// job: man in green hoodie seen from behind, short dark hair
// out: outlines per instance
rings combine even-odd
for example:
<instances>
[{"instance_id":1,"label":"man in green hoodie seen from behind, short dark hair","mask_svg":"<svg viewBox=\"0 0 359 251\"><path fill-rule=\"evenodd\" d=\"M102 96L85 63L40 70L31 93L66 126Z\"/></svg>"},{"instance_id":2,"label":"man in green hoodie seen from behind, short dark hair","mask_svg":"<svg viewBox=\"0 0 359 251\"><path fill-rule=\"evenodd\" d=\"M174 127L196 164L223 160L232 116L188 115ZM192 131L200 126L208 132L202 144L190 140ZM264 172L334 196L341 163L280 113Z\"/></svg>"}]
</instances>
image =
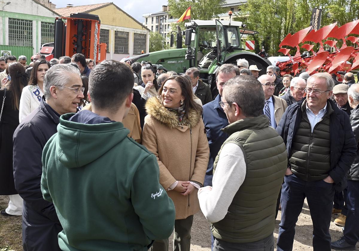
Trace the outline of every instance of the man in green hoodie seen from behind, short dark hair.
<instances>
[{"instance_id":1,"label":"man in green hoodie seen from behind, short dark hair","mask_svg":"<svg viewBox=\"0 0 359 251\"><path fill-rule=\"evenodd\" d=\"M104 61L89 78L92 112L60 117L46 144L41 189L64 230L62 250L148 250L174 228L174 205L159 184L155 156L127 137L134 76Z\"/></svg>"}]
</instances>

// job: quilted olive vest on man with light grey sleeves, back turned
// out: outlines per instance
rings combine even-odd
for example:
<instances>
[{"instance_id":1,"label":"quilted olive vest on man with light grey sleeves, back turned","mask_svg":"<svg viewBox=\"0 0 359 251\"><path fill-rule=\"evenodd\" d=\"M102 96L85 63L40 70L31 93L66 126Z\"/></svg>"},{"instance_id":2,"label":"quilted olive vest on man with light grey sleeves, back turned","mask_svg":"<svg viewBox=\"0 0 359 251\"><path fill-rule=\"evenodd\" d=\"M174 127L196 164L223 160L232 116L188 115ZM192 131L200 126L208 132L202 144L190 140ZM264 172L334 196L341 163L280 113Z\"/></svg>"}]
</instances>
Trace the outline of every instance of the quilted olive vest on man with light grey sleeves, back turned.
<instances>
[{"instance_id":1,"label":"quilted olive vest on man with light grey sleeves, back turned","mask_svg":"<svg viewBox=\"0 0 359 251\"><path fill-rule=\"evenodd\" d=\"M227 242L259 241L274 231L275 207L287 167L285 145L278 133L269 127L265 115L238 120L223 131L230 136L215 159L213 172L227 143L241 147L247 171L226 216L213 223L212 233L215 238Z\"/></svg>"}]
</instances>

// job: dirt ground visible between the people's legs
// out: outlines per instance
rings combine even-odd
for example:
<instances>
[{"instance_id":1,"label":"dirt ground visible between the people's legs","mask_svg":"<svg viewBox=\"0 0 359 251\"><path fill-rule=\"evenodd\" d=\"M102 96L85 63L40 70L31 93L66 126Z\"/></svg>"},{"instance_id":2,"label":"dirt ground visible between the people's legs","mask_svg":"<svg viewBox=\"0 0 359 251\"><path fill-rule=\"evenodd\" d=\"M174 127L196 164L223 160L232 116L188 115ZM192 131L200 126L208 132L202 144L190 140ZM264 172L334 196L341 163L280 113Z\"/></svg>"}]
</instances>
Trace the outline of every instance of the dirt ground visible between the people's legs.
<instances>
[{"instance_id":1,"label":"dirt ground visible between the people's legs","mask_svg":"<svg viewBox=\"0 0 359 251\"><path fill-rule=\"evenodd\" d=\"M7 207L7 203L8 203L8 196L0 196L0 210L5 209ZM333 222L336 217L337 216L332 217L332 223L330 224L330 234L332 236L332 240L337 240L342 236L341 227L336 226ZM275 230L274 230L275 241L278 237L279 222L280 222L280 211L275 224ZM299 216L295 231L296 232L294 237L293 250L294 251L313 250L312 220L306 202L304 203L302 213ZM195 214L191 234L192 234L191 250L210 251L211 239L210 239L209 223L207 222L202 212ZM170 237L170 240L172 240L172 238L173 236ZM23 250L22 241L21 241L21 216L5 217L0 215L0 250L2 248L6 248L4 250L13 249L14 251ZM173 251L172 247L170 247L169 250ZM356 250L359 251L359 243L356 245Z\"/></svg>"}]
</instances>

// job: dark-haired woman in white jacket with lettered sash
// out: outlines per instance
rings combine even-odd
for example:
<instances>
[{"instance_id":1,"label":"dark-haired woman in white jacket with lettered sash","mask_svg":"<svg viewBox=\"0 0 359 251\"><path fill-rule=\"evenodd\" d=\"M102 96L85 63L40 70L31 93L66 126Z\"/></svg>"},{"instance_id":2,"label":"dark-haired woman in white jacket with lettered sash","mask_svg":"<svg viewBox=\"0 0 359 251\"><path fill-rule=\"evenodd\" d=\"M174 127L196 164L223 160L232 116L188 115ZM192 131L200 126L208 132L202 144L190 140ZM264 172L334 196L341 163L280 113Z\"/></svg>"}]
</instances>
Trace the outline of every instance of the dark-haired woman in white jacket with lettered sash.
<instances>
[{"instance_id":1,"label":"dark-haired woman in white jacket with lettered sash","mask_svg":"<svg viewBox=\"0 0 359 251\"><path fill-rule=\"evenodd\" d=\"M20 99L19 120L29 115L40 105L43 94L43 80L45 72L50 68L50 63L46 60L37 60L31 71L28 86L25 86Z\"/></svg>"}]
</instances>

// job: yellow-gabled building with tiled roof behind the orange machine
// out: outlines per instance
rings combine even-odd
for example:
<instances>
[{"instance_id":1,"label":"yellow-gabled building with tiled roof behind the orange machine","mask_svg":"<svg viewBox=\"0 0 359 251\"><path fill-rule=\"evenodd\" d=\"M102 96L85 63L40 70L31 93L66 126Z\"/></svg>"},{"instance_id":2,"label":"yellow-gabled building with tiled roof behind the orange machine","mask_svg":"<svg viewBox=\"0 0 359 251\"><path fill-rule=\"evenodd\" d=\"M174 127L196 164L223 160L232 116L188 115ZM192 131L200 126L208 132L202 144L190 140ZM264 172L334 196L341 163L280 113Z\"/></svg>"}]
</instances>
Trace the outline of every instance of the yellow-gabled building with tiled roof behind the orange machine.
<instances>
[{"instance_id":1,"label":"yellow-gabled building with tiled roof behind the orange machine","mask_svg":"<svg viewBox=\"0 0 359 251\"><path fill-rule=\"evenodd\" d=\"M62 16L71 13L98 15L101 20L100 42L107 44L106 59L121 60L149 52L150 30L113 3L68 5L54 9Z\"/></svg>"}]
</instances>

